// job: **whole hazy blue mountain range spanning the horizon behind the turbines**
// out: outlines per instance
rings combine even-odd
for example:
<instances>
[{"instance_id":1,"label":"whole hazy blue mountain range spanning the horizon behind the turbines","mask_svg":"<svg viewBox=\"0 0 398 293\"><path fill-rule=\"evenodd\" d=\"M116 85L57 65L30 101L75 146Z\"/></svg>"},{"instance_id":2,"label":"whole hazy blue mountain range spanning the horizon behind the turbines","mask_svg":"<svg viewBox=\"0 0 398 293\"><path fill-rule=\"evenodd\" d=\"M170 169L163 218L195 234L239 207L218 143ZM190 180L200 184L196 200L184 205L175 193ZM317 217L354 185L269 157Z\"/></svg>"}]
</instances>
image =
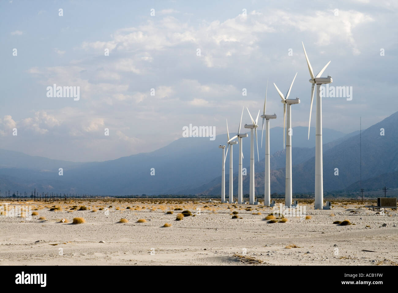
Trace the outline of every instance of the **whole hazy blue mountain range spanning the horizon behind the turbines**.
<instances>
[{"instance_id":1,"label":"whole hazy blue mountain range spanning the horizon behind the turbines","mask_svg":"<svg viewBox=\"0 0 398 293\"><path fill-rule=\"evenodd\" d=\"M362 187L379 189L381 185L397 185L398 112L365 129L362 140ZM384 135L380 135L381 128ZM315 129L293 128L293 193L313 193L315 167ZM232 133L234 135L235 133ZM264 134L265 137L265 134ZM360 178L359 131L344 134L323 129L324 191L358 191ZM180 138L152 151L102 162L75 163L30 156L0 149L0 191L86 193L100 195L219 195L221 190L221 149L226 134L209 138ZM285 191L285 150L283 129L270 130L271 193ZM259 161L255 163L256 194L264 193L264 141ZM256 147L255 147L256 148ZM225 163L226 195L228 195L229 153ZM249 192L250 133L243 138L244 193ZM234 146L234 194L237 194L238 145ZM59 175L59 168L63 175ZM154 168L154 174L151 174ZM335 174L338 168L338 174ZM153 171L152 171L153 174Z\"/></svg>"}]
</instances>

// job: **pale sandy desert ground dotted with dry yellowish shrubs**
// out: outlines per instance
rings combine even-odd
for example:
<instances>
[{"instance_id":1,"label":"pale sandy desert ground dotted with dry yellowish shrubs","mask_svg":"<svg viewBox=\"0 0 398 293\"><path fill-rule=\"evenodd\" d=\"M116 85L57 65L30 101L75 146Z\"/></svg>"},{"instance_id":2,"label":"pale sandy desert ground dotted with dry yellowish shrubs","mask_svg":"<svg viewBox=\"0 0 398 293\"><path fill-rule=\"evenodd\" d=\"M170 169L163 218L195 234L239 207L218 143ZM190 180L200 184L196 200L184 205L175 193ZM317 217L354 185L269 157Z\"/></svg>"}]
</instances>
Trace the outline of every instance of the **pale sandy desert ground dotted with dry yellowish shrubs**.
<instances>
[{"instance_id":1,"label":"pale sandy desert ground dotted with dry yellowish shrubs","mask_svg":"<svg viewBox=\"0 0 398 293\"><path fill-rule=\"evenodd\" d=\"M282 201L279 201L282 203ZM5 202L0 202L4 206ZM262 205L180 199L27 202L29 217L0 216L1 265L396 265L398 214L365 204L306 206L310 219L269 223ZM21 203L15 203L15 205ZM50 211L51 207L60 210ZM75 207L74 207L75 206ZM78 210L86 206L87 210ZM109 206L112 206L109 208ZM8 208L14 207L11 202ZM127 208L131 207L131 208ZM71 209L74 208L74 209ZM103 208L100 210L100 208ZM108 208L108 209L107 209ZM192 216L176 221L182 210ZM199 210L197 210L199 209ZM173 214L166 214L173 211ZM232 219L236 211L238 218ZM39 219L45 217L44 219ZM71 224L82 217L84 224ZM121 218L127 223L118 223ZM66 219L64 222L60 220ZM145 219L139 223L137 220ZM340 226L334 221L349 220ZM68 221L68 223L66 223ZM162 227L169 223L171 227ZM355 224L355 225L354 225ZM384 225L383 227L383 224ZM104 243L100 243L104 242ZM291 244L291 247L287 248ZM294 245L293 245L294 244ZM364 251L368 250L368 251ZM246 254L245 254L246 252ZM239 256L244 256L240 258Z\"/></svg>"}]
</instances>

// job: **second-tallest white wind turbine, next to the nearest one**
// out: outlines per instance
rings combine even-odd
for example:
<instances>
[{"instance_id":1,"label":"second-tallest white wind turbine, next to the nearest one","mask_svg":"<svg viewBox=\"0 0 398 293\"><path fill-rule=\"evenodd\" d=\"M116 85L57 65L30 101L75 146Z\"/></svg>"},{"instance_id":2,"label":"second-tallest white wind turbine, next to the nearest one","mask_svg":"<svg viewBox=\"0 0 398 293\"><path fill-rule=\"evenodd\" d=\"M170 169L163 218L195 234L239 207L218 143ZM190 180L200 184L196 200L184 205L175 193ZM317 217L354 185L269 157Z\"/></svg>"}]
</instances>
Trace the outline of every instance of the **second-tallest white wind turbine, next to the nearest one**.
<instances>
[{"instance_id":1,"label":"second-tallest white wind turbine, next to the nearest one","mask_svg":"<svg viewBox=\"0 0 398 293\"><path fill-rule=\"evenodd\" d=\"M286 133L286 183L285 183L285 206L292 206L292 116L291 116L291 105L292 104L300 104L300 99L288 99L290 90L292 89L293 83L295 82L297 73L295 78L292 81L292 84L287 91L286 96L283 96L279 88L275 85L276 90L281 96L281 102L283 104L283 145L285 145L285 114L286 114L286 105L287 105L287 133ZM285 146L283 146L285 147Z\"/></svg>"}]
</instances>

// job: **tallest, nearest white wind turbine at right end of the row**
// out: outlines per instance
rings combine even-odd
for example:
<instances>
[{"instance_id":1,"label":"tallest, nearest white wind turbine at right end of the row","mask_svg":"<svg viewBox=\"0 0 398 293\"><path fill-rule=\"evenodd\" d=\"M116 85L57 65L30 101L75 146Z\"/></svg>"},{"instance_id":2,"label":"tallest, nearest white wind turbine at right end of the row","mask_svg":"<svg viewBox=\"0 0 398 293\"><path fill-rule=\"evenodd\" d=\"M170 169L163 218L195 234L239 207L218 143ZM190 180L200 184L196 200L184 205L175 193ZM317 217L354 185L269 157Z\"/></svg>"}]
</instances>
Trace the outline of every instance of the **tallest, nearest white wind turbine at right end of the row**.
<instances>
[{"instance_id":1,"label":"tallest, nearest white wind turbine at right end of the row","mask_svg":"<svg viewBox=\"0 0 398 293\"><path fill-rule=\"evenodd\" d=\"M307 53L304 48L305 59L307 60L308 70L310 71L312 83L311 86L311 106L310 106L310 120L308 122L308 139L310 139L310 125L311 125L311 112L312 112L312 101L314 100L314 87L316 85L316 140L315 140L315 209L323 209L323 162L322 162L322 96L321 96L321 85L325 83L332 83L333 79L328 77L320 77L328 67L330 61L322 68L319 73L314 76L310 60L308 60Z\"/></svg>"}]
</instances>

